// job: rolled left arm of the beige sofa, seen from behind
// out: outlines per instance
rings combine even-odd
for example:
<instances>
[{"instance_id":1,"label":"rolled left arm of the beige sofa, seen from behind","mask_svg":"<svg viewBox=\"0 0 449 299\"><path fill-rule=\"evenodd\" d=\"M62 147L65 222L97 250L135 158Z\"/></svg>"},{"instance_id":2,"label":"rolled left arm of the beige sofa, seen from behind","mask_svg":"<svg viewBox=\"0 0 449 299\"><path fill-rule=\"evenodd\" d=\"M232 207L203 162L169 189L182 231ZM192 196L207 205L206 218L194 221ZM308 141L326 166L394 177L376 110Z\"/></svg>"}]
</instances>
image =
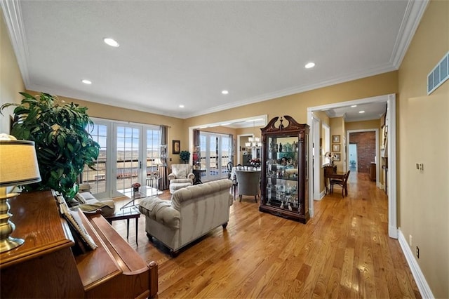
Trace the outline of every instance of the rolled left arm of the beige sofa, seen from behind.
<instances>
[{"instance_id":1,"label":"rolled left arm of the beige sofa, seen from behind","mask_svg":"<svg viewBox=\"0 0 449 299\"><path fill-rule=\"evenodd\" d=\"M140 201L139 211L171 230L180 228L180 212L171 206L171 201L147 197Z\"/></svg>"}]
</instances>

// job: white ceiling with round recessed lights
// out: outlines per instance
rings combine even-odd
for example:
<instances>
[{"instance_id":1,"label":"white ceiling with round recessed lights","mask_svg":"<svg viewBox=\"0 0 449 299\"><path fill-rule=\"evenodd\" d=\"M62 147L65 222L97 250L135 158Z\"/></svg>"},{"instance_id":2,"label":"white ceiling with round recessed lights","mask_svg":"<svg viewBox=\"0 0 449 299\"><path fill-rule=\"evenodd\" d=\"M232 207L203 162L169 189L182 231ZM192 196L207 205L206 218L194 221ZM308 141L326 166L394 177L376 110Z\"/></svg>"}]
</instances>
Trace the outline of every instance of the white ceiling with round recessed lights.
<instances>
[{"instance_id":1,"label":"white ceiling with round recessed lights","mask_svg":"<svg viewBox=\"0 0 449 299\"><path fill-rule=\"evenodd\" d=\"M0 1L27 89L180 118L398 69L427 5Z\"/></svg>"}]
</instances>

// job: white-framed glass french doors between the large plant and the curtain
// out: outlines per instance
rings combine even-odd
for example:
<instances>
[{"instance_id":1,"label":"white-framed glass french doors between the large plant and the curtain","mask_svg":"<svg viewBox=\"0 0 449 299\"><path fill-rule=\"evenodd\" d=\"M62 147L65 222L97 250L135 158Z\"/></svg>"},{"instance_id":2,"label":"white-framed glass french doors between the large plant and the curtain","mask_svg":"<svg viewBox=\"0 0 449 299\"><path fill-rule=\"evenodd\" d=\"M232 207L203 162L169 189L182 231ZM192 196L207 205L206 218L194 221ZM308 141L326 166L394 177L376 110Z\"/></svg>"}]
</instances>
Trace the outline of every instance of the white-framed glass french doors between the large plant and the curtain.
<instances>
[{"instance_id":1,"label":"white-framed glass french doors between the large plant and the curtain","mask_svg":"<svg viewBox=\"0 0 449 299\"><path fill-rule=\"evenodd\" d=\"M130 196L135 182L145 190L147 177L161 165L159 126L93 121L88 132L100 144L100 154L94 169L84 167L81 182L98 198ZM157 187L154 181L151 185Z\"/></svg>"}]
</instances>

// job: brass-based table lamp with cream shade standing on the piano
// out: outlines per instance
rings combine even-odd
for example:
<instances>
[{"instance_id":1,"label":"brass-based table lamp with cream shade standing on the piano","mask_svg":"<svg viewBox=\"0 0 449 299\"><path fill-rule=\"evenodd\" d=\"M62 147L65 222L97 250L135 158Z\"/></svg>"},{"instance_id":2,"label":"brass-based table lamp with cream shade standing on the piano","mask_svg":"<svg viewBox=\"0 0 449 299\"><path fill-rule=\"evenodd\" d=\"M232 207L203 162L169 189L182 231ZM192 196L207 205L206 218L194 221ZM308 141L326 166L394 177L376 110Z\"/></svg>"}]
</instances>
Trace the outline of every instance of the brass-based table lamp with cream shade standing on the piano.
<instances>
[{"instance_id":1,"label":"brass-based table lamp with cream shade standing on the piano","mask_svg":"<svg viewBox=\"0 0 449 299\"><path fill-rule=\"evenodd\" d=\"M9 220L11 206L8 198L18 194L7 194L6 187L40 182L34 142L16 140L14 136L0 134L0 253L22 245L25 240L11 237L15 225Z\"/></svg>"}]
</instances>

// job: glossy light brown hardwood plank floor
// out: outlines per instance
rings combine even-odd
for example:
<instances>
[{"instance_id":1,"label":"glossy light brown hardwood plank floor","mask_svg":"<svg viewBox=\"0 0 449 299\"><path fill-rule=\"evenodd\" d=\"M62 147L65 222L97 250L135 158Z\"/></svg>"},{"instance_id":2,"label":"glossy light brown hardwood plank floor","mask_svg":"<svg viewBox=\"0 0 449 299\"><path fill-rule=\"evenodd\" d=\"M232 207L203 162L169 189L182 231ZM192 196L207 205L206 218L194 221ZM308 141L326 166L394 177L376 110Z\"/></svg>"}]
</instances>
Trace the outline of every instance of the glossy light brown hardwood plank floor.
<instances>
[{"instance_id":1,"label":"glossy light brown hardwood plank floor","mask_svg":"<svg viewBox=\"0 0 449 299\"><path fill-rule=\"evenodd\" d=\"M335 187L315 201L306 225L260 213L253 197L243 197L226 230L217 227L177 258L149 243L143 215L139 245L134 220L128 241L159 264L159 298L421 298L398 241L388 237L385 193L360 173L351 173L348 190L342 198ZM125 220L113 226L126 236Z\"/></svg>"}]
</instances>

